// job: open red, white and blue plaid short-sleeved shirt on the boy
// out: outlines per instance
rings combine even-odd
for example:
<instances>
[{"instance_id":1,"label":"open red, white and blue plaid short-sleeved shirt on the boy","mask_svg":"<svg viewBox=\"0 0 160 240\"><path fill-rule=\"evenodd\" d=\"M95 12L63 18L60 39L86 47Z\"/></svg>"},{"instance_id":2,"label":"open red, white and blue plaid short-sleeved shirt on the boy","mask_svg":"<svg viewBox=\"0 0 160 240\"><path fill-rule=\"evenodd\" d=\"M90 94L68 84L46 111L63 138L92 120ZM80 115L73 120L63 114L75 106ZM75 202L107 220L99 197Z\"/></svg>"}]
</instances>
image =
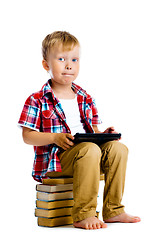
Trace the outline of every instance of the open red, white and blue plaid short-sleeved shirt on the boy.
<instances>
[{"instance_id":1,"label":"open red, white and blue plaid short-sleeved shirt on the boy","mask_svg":"<svg viewBox=\"0 0 160 240\"><path fill-rule=\"evenodd\" d=\"M59 100L51 88L51 80L42 89L29 96L24 104L19 125L46 133L71 133ZM92 125L101 123L95 101L78 85L72 83L77 95L81 123L85 132L94 132ZM35 158L32 176L41 182L47 172L61 172L61 164L57 154L61 148L56 144L34 146Z\"/></svg>"}]
</instances>

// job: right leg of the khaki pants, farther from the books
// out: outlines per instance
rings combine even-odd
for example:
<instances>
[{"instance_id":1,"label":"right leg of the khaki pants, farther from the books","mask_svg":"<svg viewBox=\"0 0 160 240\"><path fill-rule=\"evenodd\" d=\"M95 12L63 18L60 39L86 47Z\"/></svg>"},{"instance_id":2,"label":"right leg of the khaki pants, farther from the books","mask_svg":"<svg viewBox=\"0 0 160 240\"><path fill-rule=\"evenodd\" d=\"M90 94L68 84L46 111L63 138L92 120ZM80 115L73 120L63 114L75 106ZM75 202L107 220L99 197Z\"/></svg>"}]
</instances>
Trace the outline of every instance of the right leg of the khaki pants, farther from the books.
<instances>
[{"instance_id":1,"label":"right leg of the khaki pants, farther from the books","mask_svg":"<svg viewBox=\"0 0 160 240\"><path fill-rule=\"evenodd\" d=\"M101 170L105 174L103 193L103 219L114 217L124 212L121 204L124 192L128 148L111 141L100 146L102 150Z\"/></svg>"}]
</instances>

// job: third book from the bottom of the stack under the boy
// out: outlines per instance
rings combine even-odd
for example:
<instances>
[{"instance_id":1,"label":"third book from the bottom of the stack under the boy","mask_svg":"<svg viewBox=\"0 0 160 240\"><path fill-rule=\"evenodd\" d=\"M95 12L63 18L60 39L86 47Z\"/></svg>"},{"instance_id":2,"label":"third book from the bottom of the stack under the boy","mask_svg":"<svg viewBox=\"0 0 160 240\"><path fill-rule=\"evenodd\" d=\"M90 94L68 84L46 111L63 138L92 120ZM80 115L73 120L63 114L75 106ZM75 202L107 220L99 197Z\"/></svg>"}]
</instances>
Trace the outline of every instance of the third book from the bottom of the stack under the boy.
<instances>
[{"instance_id":1,"label":"third book from the bottom of the stack under the boy","mask_svg":"<svg viewBox=\"0 0 160 240\"><path fill-rule=\"evenodd\" d=\"M62 207L73 207L74 200L73 199L65 199L65 200L54 200L51 202L36 200L37 208L44 209L54 209L54 208L62 208Z\"/></svg>"}]
</instances>

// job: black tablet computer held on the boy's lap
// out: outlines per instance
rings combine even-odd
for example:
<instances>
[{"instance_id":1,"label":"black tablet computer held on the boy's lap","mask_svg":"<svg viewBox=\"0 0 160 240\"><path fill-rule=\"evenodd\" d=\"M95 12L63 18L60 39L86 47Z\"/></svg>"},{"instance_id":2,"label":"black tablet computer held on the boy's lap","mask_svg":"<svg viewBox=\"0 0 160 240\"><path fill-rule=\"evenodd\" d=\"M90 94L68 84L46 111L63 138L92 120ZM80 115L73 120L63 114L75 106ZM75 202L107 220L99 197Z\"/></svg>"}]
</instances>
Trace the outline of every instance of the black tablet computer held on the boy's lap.
<instances>
[{"instance_id":1,"label":"black tablet computer held on the boy's lap","mask_svg":"<svg viewBox=\"0 0 160 240\"><path fill-rule=\"evenodd\" d=\"M102 144L105 142L118 140L121 138L121 133L76 133L74 135L74 143L93 142Z\"/></svg>"}]
</instances>

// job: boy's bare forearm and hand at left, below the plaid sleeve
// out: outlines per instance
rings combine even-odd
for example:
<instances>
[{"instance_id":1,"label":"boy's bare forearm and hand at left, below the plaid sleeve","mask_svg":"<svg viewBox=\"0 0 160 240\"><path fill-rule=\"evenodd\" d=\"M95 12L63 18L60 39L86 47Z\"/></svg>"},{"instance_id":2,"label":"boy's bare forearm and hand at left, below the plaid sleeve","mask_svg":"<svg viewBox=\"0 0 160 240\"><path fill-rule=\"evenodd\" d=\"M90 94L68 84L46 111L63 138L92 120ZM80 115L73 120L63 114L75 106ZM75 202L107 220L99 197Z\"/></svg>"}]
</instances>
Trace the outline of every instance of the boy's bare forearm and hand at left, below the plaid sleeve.
<instances>
[{"instance_id":1,"label":"boy's bare forearm and hand at left, below the plaid sleeve","mask_svg":"<svg viewBox=\"0 0 160 240\"><path fill-rule=\"evenodd\" d=\"M22 136L25 143L34 146L56 144L66 150L74 145L74 143L70 141L74 139L70 133L44 133L23 127Z\"/></svg>"}]
</instances>

